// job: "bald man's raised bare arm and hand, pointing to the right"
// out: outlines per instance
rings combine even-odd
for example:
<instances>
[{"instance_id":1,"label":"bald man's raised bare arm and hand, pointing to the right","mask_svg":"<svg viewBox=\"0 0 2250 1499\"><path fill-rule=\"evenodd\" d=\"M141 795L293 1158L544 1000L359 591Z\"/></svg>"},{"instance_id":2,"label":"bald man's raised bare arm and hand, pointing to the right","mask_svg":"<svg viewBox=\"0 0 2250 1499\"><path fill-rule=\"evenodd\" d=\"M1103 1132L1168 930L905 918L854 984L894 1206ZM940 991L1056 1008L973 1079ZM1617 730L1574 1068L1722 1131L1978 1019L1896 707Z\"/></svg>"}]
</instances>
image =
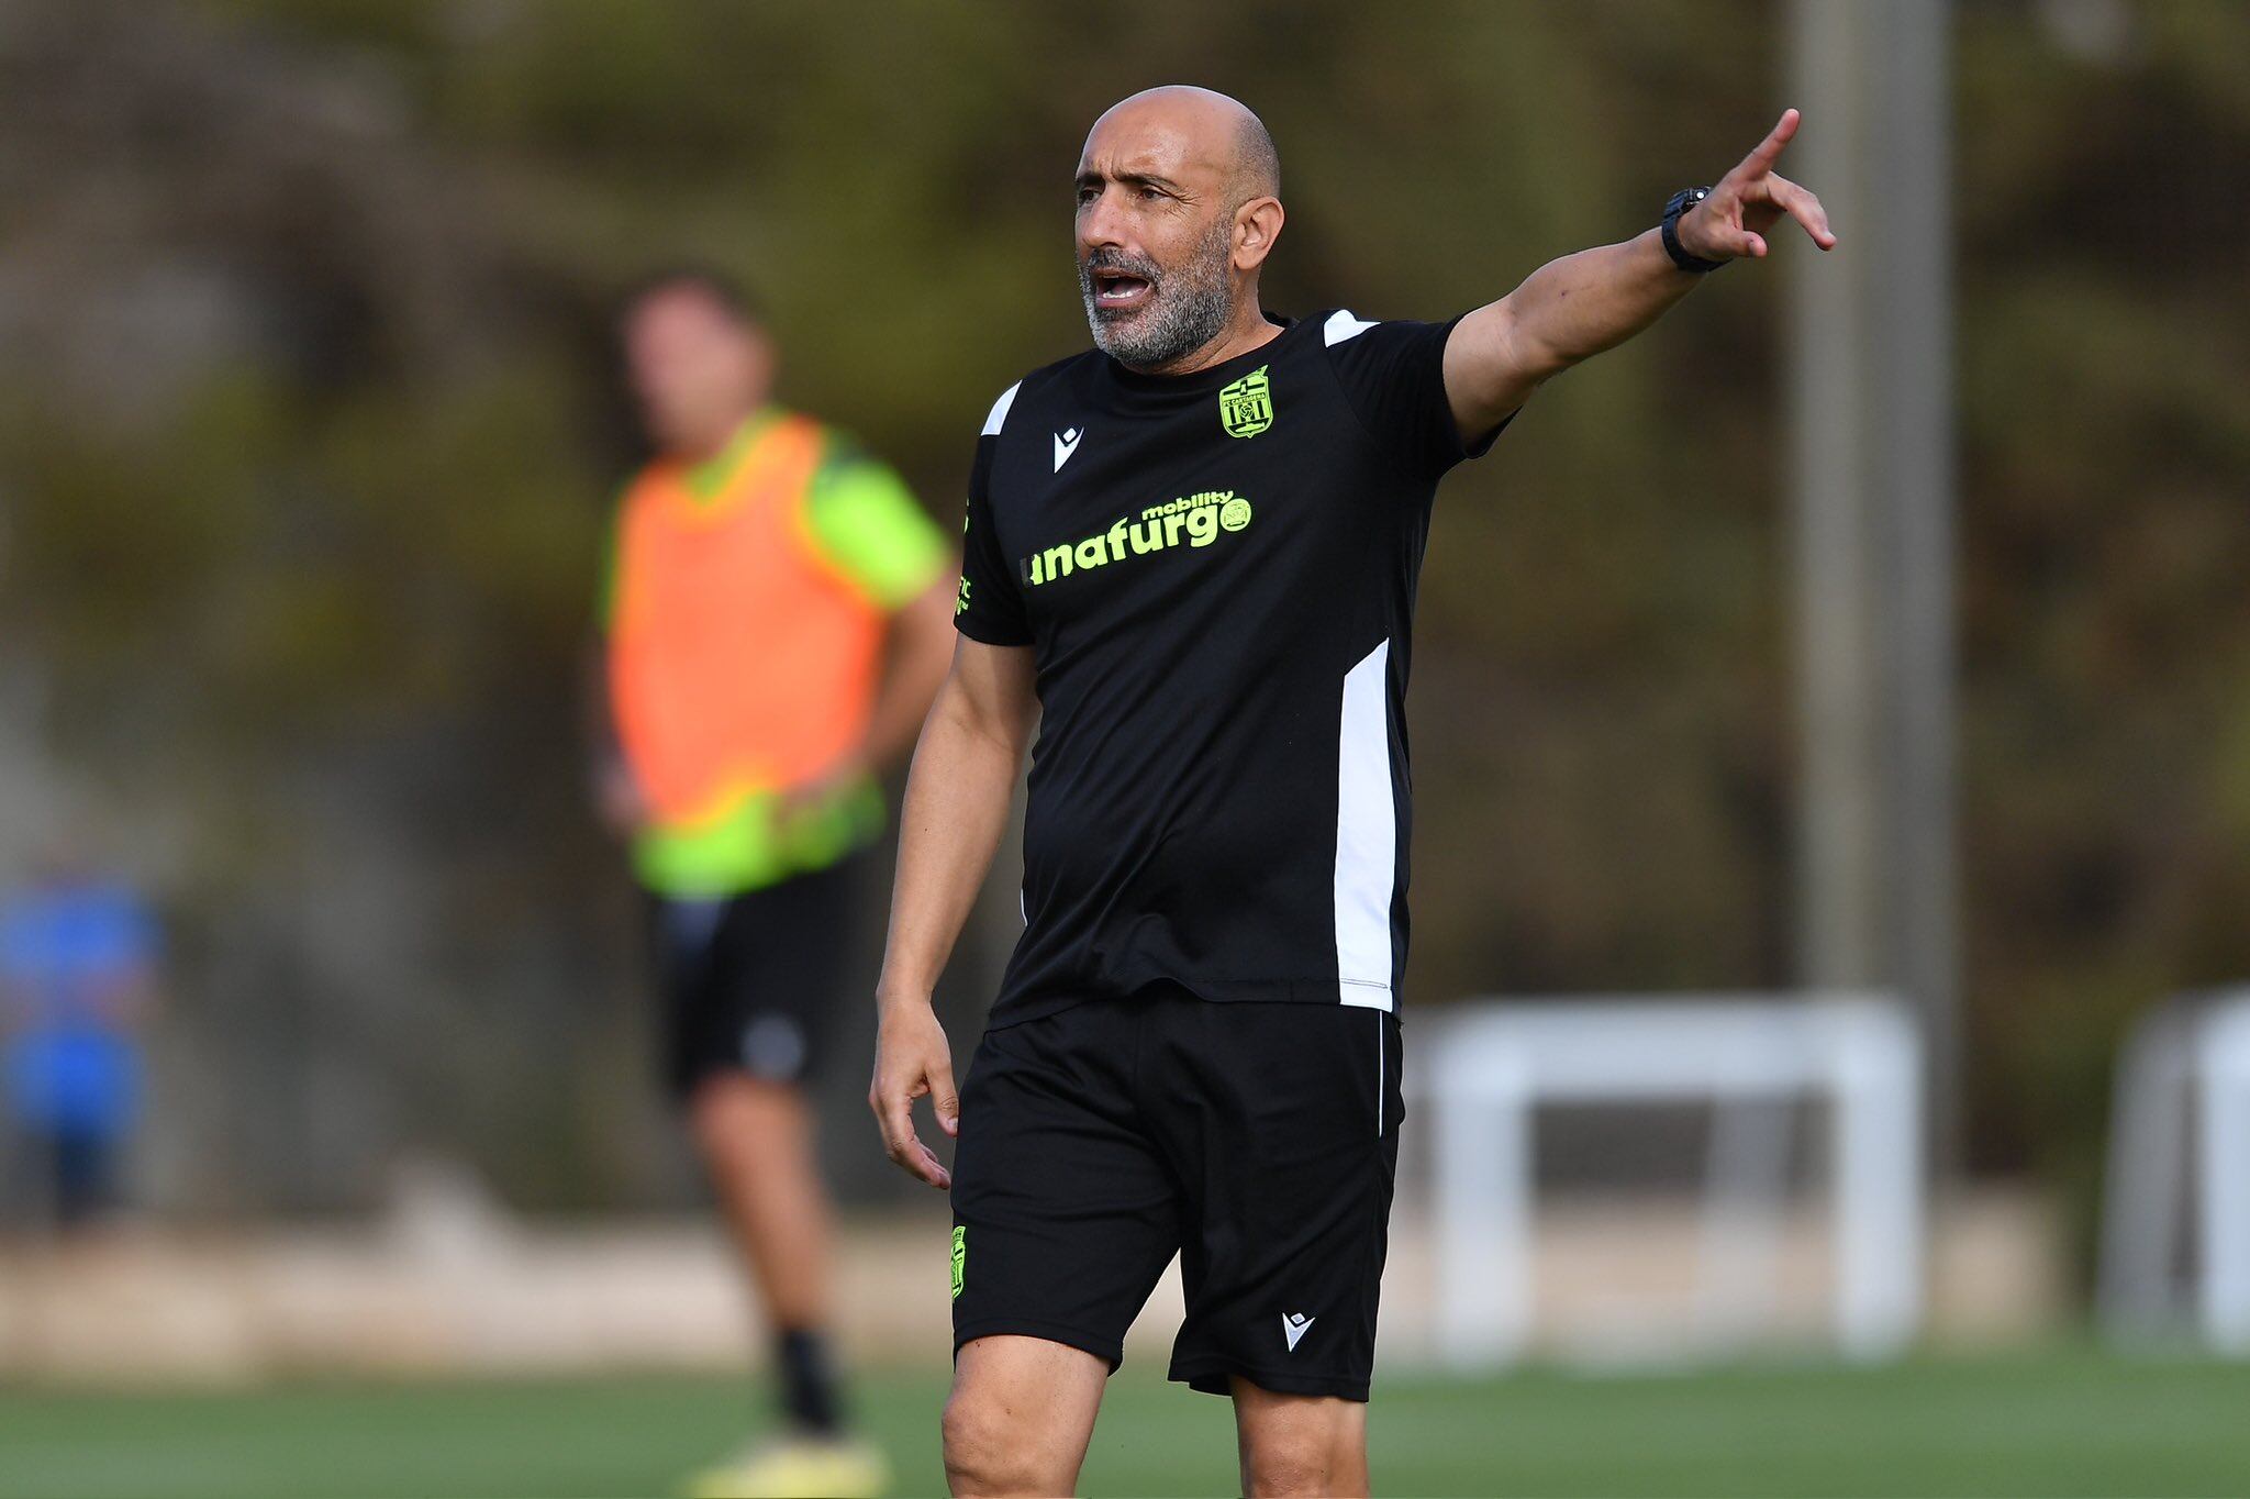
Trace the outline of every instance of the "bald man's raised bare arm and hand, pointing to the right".
<instances>
[{"instance_id":1,"label":"bald man's raised bare arm and hand, pointing to the right","mask_svg":"<svg viewBox=\"0 0 2250 1499\"><path fill-rule=\"evenodd\" d=\"M1836 248L1820 198L1773 171L1796 133L1798 113L1784 110L1766 140L1678 218L1681 250L1703 261L1762 259L1766 232L1782 218L1796 218L1822 250ZM1462 317L1444 344L1444 394L1462 439L1474 443L1544 380L1656 322L1699 279L1672 261L1658 230L1647 230L1548 261Z\"/></svg>"}]
</instances>

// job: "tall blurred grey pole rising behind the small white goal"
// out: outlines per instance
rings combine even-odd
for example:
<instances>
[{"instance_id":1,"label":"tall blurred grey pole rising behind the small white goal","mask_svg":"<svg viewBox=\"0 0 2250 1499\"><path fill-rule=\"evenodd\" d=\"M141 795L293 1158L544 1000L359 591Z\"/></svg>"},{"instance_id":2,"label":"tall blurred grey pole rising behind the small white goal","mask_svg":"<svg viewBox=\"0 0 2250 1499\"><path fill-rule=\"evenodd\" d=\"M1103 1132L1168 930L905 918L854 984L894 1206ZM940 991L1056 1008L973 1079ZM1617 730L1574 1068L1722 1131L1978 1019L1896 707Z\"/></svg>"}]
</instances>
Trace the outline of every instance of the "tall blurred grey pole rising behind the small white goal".
<instances>
[{"instance_id":1,"label":"tall blurred grey pole rising behind the small white goal","mask_svg":"<svg viewBox=\"0 0 2250 1499\"><path fill-rule=\"evenodd\" d=\"M1800 977L1924 1022L1958 1157L1951 70L1946 0L1791 2L1796 169L1845 248L1791 257Z\"/></svg>"}]
</instances>

